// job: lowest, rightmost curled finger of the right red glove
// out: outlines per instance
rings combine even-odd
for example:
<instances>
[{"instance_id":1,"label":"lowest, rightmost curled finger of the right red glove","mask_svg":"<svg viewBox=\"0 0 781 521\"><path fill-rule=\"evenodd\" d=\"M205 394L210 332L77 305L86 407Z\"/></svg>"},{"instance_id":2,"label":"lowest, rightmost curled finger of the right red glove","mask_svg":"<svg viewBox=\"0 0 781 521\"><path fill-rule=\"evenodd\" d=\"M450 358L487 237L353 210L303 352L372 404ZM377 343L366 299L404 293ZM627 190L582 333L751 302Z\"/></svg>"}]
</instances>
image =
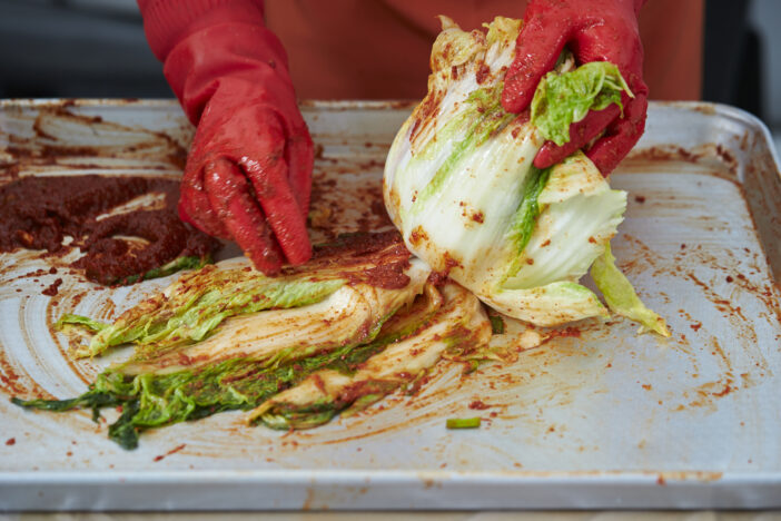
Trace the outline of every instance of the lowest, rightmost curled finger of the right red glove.
<instances>
[{"instance_id":1,"label":"lowest, rightmost curled finger of the right red glove","mask_svg":"<svg viewBox=\"0 0 781 521\"><path fill-rule=\"evenodd\" d=\"M636 94L625 104L624 117L611 124L605 136L586 151L603 176L615 169L643 135L647 106L646 95Z\"/></svg>"}]
</instances>

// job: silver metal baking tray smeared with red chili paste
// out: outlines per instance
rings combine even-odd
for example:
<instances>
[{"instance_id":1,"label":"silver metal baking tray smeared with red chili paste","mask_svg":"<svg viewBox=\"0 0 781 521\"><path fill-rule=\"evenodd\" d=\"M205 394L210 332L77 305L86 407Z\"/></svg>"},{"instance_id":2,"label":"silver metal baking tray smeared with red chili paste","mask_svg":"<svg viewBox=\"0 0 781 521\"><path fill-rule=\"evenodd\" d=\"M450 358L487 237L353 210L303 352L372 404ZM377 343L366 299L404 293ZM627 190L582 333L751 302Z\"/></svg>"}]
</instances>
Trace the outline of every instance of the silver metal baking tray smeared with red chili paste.
<instances>
[{"instance_id":1,"label":"silver metal baking tray smeared with red chili paste","mask_svg":"<svg viewBox=\"0 0 781 521\"><path fill-rule=\"evenodd\" d=\"M411 109L303 105L315 240L387 226L383 164ZM171 101L2 101L0 175L178 176L191 135ZM515 363L443 366L417 395L304 432L224 413L126 452L88 412L13 406L77 395L111 361L70 361L50 327L61 313L108 320L167 281L66 277L50 298L57 275L24 276L49 260L1 255L0 509L781 507L781 177L765 127L730 107L651 104L611 180L630 191L614 253L671 338L582 323ZM481 429L445 429L476 414Z\"/></svg>"}]
</instances>

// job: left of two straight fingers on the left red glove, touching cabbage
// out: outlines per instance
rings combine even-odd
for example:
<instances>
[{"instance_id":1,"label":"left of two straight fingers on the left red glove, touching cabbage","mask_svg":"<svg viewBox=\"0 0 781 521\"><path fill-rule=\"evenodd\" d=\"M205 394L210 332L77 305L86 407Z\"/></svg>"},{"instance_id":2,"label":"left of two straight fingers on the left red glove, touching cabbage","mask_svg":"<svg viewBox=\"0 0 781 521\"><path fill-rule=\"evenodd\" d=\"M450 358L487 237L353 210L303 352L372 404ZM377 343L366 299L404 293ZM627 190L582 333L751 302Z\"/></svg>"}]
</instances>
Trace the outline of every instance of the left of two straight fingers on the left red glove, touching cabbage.
<instances>
[{"instance_id":1,"label":"left of two straight fingers on the left red glove, touching cabbage","mask_svg":"<svg viewBox=\"0 0 781 521\"><path fill-rule=\"evenodd\" d=\"M207 165L206 170L206 194L233 239L263 273L279 273L281 252L241 170L225 158Z\"/></svg>"}]
</instances>

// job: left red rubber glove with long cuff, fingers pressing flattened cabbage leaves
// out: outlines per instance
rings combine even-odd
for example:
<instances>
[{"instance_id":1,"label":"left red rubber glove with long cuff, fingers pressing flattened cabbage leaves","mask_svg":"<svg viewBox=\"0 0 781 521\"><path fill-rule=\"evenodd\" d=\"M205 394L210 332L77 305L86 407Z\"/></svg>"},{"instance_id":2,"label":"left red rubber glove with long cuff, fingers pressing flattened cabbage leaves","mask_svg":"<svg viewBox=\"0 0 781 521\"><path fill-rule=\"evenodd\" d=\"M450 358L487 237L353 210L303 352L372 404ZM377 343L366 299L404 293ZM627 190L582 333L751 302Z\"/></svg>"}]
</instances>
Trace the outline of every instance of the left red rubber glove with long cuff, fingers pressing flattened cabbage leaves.
<instances>
[{"instance_id":1,"label":"left red rubber glove with long cuff, fingers pressing flattened cabbage leaves","mask_svg":"<svg viewBox=\"0 0 781 521\"><path fill-rule=\"evenodd\" d=\"M306 262L314 147L261 2L138 3L166 79L197 125L179 216L236 240L268 275Z\"/></svg>"}]
</instances>

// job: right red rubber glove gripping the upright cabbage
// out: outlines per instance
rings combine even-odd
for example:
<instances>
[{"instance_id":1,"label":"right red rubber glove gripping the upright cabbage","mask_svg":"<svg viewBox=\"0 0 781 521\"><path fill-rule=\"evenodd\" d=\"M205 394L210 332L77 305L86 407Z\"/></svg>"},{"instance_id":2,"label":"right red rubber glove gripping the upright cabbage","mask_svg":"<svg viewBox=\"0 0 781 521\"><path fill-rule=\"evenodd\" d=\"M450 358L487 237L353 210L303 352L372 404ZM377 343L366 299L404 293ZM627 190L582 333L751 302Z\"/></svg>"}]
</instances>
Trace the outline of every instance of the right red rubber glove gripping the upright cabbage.
<instances>
[{"instance_id":1,"label":"right red rubber glove gripping the upright cabbage","mask_svg":"<svg viewBox=\"0 0 781 521\"><path fill-rule=\"evenodd\" d=\"M586 155L607 176L629 154L645 129L647 87L643 82L643 46L637 12L645 0L531 0L516 40L515 60L505 77L502 105L521 112L532 102L540 79L556 63L564 46L579 65L610 61L619 67L634 98L622 95L616 105L591 111L570 127L571 141L547 141L534 166L547 168L604 131Z\"/></svg>"}]
</instances>

